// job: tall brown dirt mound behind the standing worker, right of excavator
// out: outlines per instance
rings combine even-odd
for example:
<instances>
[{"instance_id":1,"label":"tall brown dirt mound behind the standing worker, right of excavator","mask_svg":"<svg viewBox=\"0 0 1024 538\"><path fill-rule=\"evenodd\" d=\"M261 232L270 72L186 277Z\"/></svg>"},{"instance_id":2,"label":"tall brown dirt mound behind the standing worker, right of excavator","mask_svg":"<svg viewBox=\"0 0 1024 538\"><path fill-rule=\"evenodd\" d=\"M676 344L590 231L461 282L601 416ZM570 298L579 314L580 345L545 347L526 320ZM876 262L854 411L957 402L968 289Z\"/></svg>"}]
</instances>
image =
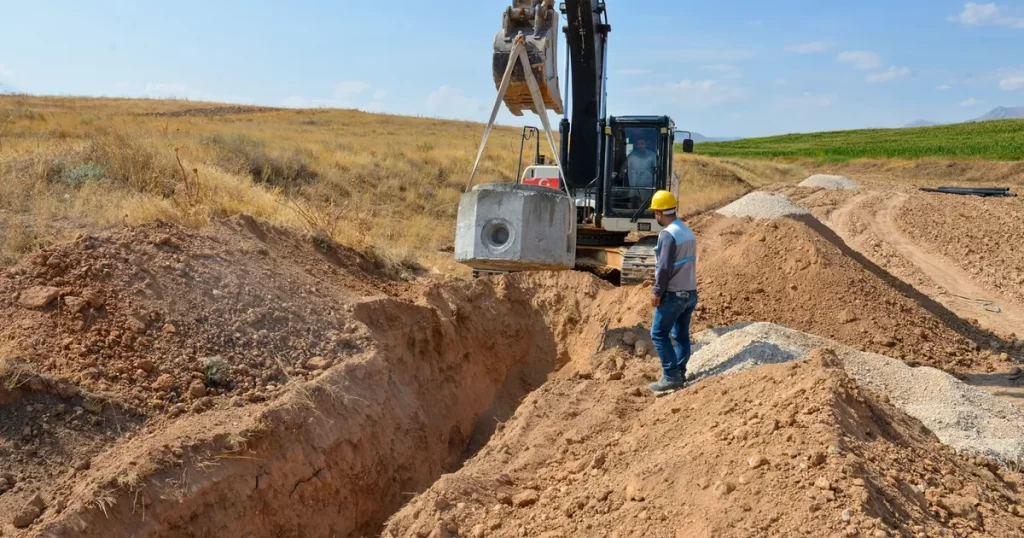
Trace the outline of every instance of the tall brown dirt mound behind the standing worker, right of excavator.
<instances>
[{"instance_id":1,"label":"tall brown dirt mound behind the standing worker, right of excavator","mask_svg":"<svg viewBox=\"0 0 1024 538\"><path fill-rule=\"evenodd\" d=\"M767 321L911 364L969 367L979 331L806 216L693 222L697 329ZM986 340L987 341L987 340Z\"/></svg>"}]
</instances>

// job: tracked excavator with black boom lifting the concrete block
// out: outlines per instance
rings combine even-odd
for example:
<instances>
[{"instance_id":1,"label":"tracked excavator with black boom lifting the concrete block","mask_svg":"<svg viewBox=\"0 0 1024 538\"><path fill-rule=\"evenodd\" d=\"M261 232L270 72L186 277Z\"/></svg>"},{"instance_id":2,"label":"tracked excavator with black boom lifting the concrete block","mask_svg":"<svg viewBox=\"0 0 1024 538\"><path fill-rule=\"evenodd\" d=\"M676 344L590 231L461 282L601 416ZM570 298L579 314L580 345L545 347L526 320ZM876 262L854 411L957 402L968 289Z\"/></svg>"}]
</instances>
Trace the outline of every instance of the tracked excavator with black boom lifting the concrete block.
<instances>
[{"instance_id":1,"label":"tracked excavator with black boom lifting the concrete block","mask_svg":"<svg viewBox=\"0 0 1024 538\"><path fill-rule=\"evenodd\" d=\"M559 13L565 18L561 30L567 45L564 94L557 65ZM513 69L509 66L513 45L517 37L525 38L535 87L539 86L544 106L531 98L521 64L506 81L503 100L515 116L547 110L562 115L561 171L540 159L517 180L564 190L574 200L578 270L635 285L654 278L660 226L648 209L650 200L658 190L679 196L673 173L676 136L686 134L685 153L693 152L693 140L689 132L677 131L669 116L607 116L610 32L604 0L566 0L557 11L553 0L512 0L495 37L493 75L501 90L506 70ZM524 129L523 139L531 133L539 134L536 128ZM519 159L521 169L521 149Z\"/></svg>"}]
</instances>

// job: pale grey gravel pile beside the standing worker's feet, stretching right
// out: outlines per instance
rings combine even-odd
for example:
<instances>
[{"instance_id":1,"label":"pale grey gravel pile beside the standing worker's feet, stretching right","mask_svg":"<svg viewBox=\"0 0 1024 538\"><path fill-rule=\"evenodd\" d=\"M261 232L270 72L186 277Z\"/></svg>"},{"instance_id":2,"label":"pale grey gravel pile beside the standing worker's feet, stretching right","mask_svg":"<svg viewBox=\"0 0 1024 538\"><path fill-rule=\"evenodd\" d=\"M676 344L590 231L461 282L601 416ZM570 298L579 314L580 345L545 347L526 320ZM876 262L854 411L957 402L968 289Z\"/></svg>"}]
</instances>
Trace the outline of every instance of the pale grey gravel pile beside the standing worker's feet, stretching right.
<instances>
[{"instance_id":1,"label":"pale grey gravel pile beside the standing worker's feet, stretching right","mask_svg":"<svg viewBox=\"0 0 1024 538\"><path fill-rule=\"evenodd\" d=\"M800 360L828 346L861 386L886 395L942 443L1002 462L1024 462L1024 412L934 368L910 368L770 323L740 324L695 335L689 370L697 378Z\"/></svg>"}]
</instances>

